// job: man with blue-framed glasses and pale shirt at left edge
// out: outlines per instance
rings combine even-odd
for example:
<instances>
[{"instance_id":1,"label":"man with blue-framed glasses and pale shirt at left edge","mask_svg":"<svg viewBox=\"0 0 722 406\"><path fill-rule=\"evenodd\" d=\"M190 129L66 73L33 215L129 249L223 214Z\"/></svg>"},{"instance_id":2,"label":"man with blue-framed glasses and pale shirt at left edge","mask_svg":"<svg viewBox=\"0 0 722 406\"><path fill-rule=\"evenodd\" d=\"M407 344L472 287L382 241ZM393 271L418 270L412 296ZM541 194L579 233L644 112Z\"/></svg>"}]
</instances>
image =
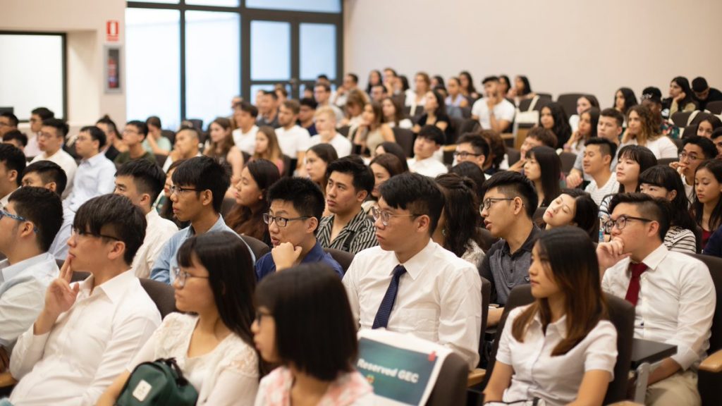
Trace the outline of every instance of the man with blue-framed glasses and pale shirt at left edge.
<instances>
[{"instance_id":1,"label":"man with blue-framed glasses and pale shirt at left edge","mask_svg":"<svg viewBox=\"0 0 722 406\"><path fill-rule=\"evenodd\" d=\"M63 223L60 196L48 189L24 187L10 196L0 214L0 371L7 368L17 337L43 309L45 290L58 277L48 252Z\"/></svg>"}]
</instances>

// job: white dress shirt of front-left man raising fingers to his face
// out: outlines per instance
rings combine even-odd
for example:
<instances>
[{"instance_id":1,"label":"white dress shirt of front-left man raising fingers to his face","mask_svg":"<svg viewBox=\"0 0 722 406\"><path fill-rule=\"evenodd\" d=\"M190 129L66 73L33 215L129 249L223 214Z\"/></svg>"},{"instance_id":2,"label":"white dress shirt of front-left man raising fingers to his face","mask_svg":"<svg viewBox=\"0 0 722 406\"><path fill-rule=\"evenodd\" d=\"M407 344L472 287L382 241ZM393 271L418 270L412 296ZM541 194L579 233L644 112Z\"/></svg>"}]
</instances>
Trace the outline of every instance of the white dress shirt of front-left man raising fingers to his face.
<instances>
[{"instance_id":1,"label":"white dress shirt of front-left man raising fingers to his face","mask_svg":"<svg viewBox=\"0 0 722 406\"><path fill-rule=\"evenodd\" d=\"M16 406L95 405L160 325L160 313L130 270L92 290L79 282L74 305L50 332L32 326L17 340L10 372Z\"/></svg>"}]
</instances>

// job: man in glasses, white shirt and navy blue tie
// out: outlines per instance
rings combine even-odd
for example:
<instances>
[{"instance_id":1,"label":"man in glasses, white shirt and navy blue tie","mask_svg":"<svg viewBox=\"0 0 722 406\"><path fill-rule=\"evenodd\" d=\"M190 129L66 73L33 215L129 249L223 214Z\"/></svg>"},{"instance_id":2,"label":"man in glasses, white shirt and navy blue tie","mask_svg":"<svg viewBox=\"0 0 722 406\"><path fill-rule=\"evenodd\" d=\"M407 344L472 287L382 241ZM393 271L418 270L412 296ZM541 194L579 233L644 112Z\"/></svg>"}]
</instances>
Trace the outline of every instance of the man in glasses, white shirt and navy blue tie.
<instances>
[{"instance_id":1,"label":"man in glasses, white shirt and navy blue tie","mask_svg":"<svg viewBox=\"0 0 722 406\"><path fill-rule=\"evenodd\" d=\"M443 193L425 176L403 173L383 183L372 211L379 245L354 257L344 286L361 329L437 342L471 369L479 362L481 279L474 265L432 241L443 206Z\"/></svg>"}]
</instances>

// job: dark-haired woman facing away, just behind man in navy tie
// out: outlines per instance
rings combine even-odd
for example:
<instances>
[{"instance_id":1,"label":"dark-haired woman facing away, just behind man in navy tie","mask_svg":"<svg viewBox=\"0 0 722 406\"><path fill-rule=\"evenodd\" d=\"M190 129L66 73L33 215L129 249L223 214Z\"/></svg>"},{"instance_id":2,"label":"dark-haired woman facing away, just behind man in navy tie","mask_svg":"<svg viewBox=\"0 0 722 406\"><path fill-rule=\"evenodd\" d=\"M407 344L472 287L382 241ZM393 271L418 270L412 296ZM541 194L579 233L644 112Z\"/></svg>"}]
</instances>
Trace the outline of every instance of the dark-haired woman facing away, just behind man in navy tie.
<instances>
[{"instance_id":1,"label":"dark-haired woman facing away, just behind man in navy tie","mask_svg":"<svg viewBox=\"0 0 722 406\"><path fill-rule=\"evenodd\" d=\"M436 177L436 185L443 191L444 209L432 240L474 267L480 267L484 251L476 241L481 220L476 184L456 173L444 173Z\"/></svg>"}]
</instances>

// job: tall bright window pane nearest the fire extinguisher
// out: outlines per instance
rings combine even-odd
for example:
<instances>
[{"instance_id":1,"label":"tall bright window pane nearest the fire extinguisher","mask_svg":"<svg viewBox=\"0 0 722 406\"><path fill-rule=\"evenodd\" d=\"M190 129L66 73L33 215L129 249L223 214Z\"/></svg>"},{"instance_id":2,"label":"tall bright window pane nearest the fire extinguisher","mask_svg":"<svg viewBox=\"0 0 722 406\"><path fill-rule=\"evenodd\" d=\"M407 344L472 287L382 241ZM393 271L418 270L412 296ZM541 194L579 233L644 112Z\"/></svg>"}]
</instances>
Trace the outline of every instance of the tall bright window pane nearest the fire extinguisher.
<instances>
[{"instance_id":1,"label":"tall bright window pane nearest the fire extinguisher","mask_svg":"<svg viewBox=\"0 0 722 406\"><path fill-rule=\"evenodd\" d=\"M129 120L159 116L163 128L181 124L180 14L126 9L126 108Z\"/></svg>"}]
</instances>

